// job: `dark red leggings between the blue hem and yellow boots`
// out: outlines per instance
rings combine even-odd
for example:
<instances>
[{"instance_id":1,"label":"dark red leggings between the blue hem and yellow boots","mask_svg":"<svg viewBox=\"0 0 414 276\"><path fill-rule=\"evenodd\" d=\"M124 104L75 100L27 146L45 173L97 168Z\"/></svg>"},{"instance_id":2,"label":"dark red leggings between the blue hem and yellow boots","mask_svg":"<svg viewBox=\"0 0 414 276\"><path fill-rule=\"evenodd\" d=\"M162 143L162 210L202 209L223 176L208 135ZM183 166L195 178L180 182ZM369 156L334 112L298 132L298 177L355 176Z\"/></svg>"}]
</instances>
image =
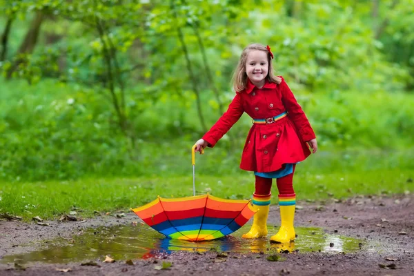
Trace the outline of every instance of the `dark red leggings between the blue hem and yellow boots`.
<instances>
[{"instance_id":1,"label":"dark red leggings between the blue hem and yellow boots","mask_svg":"<svg viewBox=\"0 0 414 276\"><path fill-rule=\"evenodd\" d=\"M294 173L295 173L295 165L293 165L292 173L290 173L289 175L285 175L284 177L280 177L276 179L276 185L277 185L277 190L279 190L279 195L295 193L295 190L293 190L293 174ZM256 195L270 194L273 179L258 177L257 175L255 177L256 177L255 194Z\"/></svg>"}]
</instances>

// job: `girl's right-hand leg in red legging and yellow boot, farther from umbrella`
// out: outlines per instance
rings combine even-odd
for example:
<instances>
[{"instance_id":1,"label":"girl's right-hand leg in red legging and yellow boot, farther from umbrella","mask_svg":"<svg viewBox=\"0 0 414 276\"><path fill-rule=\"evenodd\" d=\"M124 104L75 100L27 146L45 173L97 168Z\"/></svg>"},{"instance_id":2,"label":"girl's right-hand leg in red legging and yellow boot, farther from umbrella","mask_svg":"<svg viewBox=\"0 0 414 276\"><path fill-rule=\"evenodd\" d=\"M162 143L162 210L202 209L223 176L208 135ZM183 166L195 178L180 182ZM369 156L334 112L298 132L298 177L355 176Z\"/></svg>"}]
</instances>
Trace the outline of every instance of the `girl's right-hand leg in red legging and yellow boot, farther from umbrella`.
<instances>
[{"instance_id":1,"label":"girl's right-hand leg in red legging and yellow boot, farther from umbrella","mask_svg":"<svg viewBox=\"0 0 414 276\"><path fill-rule=\"evenodd\" d=\"M276 180L279 190L280 219L282 221L279 232L270 238L270 242L286 243L295 240L295 229L293 220L295 218L296 195L293 190L293 174L295 165L290 175L280 177Z\"/></svg>"}]
</instances>

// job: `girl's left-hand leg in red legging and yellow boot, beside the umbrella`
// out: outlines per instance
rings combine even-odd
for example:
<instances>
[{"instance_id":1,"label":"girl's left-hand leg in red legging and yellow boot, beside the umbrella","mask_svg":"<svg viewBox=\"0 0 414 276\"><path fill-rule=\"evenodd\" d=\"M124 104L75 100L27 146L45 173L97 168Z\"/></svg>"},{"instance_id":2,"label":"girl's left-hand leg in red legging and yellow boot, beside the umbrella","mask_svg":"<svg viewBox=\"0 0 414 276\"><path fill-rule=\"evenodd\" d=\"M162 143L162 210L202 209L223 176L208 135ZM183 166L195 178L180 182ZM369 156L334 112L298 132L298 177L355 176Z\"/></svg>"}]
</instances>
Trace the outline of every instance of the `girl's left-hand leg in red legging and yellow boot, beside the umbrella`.
<instances>
[{"instance_id":1,"label":"girl's left-hand leg in red legging and yellow boot, beside the umbrella","mask_svg":"<svg viewBox=\"0 0 414 276\"><path fill-rule=\"evenodd\" d=\"M267 231L267 218L270 206L270 190L272 188L272 179L264 177L256 177L255 193L253 194L253 206L258 208L255 217L253 217L253 225L248 233L244 234L245 239L255 239L265 237Z\"/></svg>"}]
</instances>

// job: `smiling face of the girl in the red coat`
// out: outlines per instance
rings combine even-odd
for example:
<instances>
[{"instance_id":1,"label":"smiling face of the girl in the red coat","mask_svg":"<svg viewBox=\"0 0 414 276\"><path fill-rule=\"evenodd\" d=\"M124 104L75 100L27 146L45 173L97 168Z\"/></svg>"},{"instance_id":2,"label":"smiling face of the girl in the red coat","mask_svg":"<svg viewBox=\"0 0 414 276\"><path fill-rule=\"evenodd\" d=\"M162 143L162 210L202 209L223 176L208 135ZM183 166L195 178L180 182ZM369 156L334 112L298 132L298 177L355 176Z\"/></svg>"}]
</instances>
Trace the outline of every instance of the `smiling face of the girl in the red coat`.
<instances>
[{"instance_id":1,"label":"smiling face of the girl in the red coat","mask_svg":"<svg viewBox=\"0 0 414 276\"><path fill-rule=\"evenodd\" d=\"M259 50L252 50L248 53L246 59L246 74L250 81L262 88L268 75L268 53Z\"/></svg>"}]
</instances>

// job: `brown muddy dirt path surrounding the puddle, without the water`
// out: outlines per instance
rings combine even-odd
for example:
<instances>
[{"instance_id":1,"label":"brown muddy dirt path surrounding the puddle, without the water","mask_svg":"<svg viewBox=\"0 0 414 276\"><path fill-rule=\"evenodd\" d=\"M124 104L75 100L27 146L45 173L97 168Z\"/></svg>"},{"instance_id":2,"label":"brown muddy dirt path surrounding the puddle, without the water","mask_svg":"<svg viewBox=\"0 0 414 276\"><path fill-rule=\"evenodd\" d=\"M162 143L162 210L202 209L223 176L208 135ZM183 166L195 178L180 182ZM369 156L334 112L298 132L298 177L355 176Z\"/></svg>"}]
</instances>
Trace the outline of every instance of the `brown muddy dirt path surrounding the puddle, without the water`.
<instances>
[{"instance_id":1,"label":"brown muddy dirt path surrounding the puddle, without the water","mask_svg":"<svg viewBox=\"0 0 414 276\"><path fill-rule=\"evenodd\" d=\"M325 206L299 202L296 226L324 228L327 233L366 239L375 246L362 246L353 254L282 254L282 262L269 262L267 253L228 253L227 257L217 257L214 252L179 251L158 259L135 259L134 266L124 261L108 264L95 260L99 267L81 263L30 263L26 270L21 270L14 264L0 264L0 275L414 275L413 195L329 202ZM269 224L278 224L278 214L277 206L272 206ZM137 221L133 214L66 223L48 221L52 227L0 221L0 259L36 250L45 239L79 235L83 228L128 225L132 221ZM171 262L172 266L167 270L156 269L162 262ZM62 268L70 271L57 270Z\"/></svg>"}]
</instances>

